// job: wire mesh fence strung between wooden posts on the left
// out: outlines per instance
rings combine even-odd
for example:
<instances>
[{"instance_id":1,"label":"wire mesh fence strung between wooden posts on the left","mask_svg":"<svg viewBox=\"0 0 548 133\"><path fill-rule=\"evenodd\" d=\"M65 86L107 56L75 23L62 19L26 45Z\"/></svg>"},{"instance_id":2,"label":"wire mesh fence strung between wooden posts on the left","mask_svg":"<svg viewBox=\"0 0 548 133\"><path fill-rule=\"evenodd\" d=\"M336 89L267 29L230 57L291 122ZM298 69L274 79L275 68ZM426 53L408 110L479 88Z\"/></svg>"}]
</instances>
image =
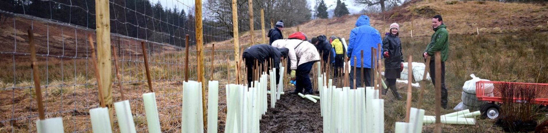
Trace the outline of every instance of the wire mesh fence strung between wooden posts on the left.
<instances>
[{"instance_id":1,"label":"wire mesh fence strung between wooden posts on the left","mask_svg":"<svg viewBox=\"0 0 548 133\"><path fill-rule=\"evenodd\" d=\"M47 118L62 117L66 132L90 132L88 110L99 106L94 66L90 56L88 34L95 38L94 5L83 1L24 1L22 10L0 9L0 132L35 132L38 119L37 101L33 87L30 50L26 30L35 32L38 68ZM113 101L129 100L138 132L147 131L141 95L148 92L144 57L140 43L145 42L149 56L149 70L156 92L161 128L164 132L180 131L182 82L185 63L189 63L189 80L197 80L197 50L193 1L110 1L111 45L116 50L122 86L118 85L115 65L112 65ZM43 8L31 6L41 3ZM137 8L153 5L154 8ZM162 7L172 7L163 8ZM181 9L177 9L177 7ZM68 8L56 14L57 9ZM15 10L15 11L14 11ZM179 11L180 10L180 11ZM32 14L39 11L45 15ZM186 13L184 13L186 11ZM48 13L49 12L49 13ZM61 12L61 11L59 11ZM58 13L59 13L58 12ZM182 13L181 13L182 12ZM255 13L254 13L255 14ZM63 18L63 15L68 15ZM78 15L78 16L77 16ZM142 18L142 19L139 19ZM260 17L259 17L260 18ZM83 19L83 20L81 20ZM143 20L143 21L141 21ZM75 22L82 21L82 22ZM255 21L257 23L258 21ZM259 23L260 24L260 23ZM241 27L248 27L239 24ZM259 26L257 26L259 27ZM231 31L204 25L204 43L224 41L231 36L214 33ZM189 62L185 62L185 34L190 34ZM259 38L257 36L256 38ZM203 49L204 77L219 80L219 129L222 130L226 112L224 84L235 83L234 51L220 43L213 60L211 47ZM209 46L209 45L206 45ZM239 59L237 59L239 60ZM113 59L111 59L111 63ZM207 84L207 83L206 83ZM207 86L207 85L206 85ZM121 89L120 89L121 88ZM207 96L207 95L206 95ZM115 119L115 131L117 123Z\"/></svg>"}]
</instances>

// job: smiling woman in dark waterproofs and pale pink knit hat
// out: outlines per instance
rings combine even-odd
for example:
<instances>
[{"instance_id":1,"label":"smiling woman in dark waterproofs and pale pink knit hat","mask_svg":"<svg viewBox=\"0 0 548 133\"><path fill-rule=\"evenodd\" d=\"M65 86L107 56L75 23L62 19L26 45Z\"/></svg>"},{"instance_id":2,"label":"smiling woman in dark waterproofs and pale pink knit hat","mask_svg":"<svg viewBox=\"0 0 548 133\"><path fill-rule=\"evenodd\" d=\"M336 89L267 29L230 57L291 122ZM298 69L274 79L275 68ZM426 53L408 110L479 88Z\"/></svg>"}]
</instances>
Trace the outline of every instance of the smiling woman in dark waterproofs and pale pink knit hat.
<instances>
[{"instance_id":1,"label":"smiling woman in dark waterproofs and pale pink knit hat","mask_svg":"<svg viewBox=\"0 0 548 133\"><path fill-rule=\"evenodd\" d=\"M390 32L386 33L386 36L383 39L383 56L384 60L384 77L386 77L386 85L396 99L401 100L402 96L399 95L398 89L396 88L396 79L400 78L401 72L403 70L403 53L402 53L402 43L399 40L399 25L393 23L390 25ZM388 89L383 89L383 95L386 95Z\"/></svg>"}]
</instances>

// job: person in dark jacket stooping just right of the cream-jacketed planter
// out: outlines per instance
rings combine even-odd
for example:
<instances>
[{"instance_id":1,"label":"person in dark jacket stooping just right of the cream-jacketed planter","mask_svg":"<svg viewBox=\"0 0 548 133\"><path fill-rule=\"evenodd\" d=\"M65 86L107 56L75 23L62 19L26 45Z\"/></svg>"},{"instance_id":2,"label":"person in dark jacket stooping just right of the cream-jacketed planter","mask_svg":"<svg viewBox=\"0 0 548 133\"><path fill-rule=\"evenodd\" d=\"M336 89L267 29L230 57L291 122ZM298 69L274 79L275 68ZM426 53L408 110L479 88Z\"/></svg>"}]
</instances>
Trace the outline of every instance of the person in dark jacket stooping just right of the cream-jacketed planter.
<instances>
[{"instance_id":1,"label":"person in dark jacket stooping just right of the cream-jacketed planter","mask_svg":"<svg viewBox=\"0 0 548 133\"><path fill-rule=\"evenodd\" d=\"M318 37L313 37L312 44L316 47L318 50L318 53L322 56L322 60L325 67L329 67L331 64L329 61L333 61L333 57L329 57L330 55L333 55L331 44L329 44L329 41L327 40L327 37L323 34ZM322 70L325 70L325 68L322 68Z\"/></svg>"}]
</instances>

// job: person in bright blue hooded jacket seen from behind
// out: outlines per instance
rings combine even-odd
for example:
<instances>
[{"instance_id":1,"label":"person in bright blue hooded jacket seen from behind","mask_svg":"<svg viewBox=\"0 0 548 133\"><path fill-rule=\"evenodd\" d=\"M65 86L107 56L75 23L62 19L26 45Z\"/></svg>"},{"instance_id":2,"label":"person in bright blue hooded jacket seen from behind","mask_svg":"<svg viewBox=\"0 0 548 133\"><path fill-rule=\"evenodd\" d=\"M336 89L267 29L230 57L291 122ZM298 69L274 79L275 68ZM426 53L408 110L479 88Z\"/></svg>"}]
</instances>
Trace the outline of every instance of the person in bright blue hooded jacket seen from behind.
<instances>
[{"instance_id":1,"label":"person in bright blue hooded jacket seen from behind","mask_svg":"<svg viewBox=\"0 0 548 133\"><path fill-rule=\"evenodd\" d=\"M364 82L366 86L373 86L371 81L371 48L377 49L378 44L382 44L380 33L369 24L369 17L367 15L359 16L356 20L356 27L350 31L350 39L348 44L348 50L346 56L350 60L350 88L353 89L353 79L356 77L356 87L362 87ZM361 61L361 50L363 50L363 63ZM383 50L382 48L378 49ZM356 57L356 70L354 70L354 57ZM347 61L348 61L347 60ZM362 72L363 67L363 72ZM353 73L356 71L356 75ZM361 75L364 74L361 79Z\"/></svg>"}]
</instances>

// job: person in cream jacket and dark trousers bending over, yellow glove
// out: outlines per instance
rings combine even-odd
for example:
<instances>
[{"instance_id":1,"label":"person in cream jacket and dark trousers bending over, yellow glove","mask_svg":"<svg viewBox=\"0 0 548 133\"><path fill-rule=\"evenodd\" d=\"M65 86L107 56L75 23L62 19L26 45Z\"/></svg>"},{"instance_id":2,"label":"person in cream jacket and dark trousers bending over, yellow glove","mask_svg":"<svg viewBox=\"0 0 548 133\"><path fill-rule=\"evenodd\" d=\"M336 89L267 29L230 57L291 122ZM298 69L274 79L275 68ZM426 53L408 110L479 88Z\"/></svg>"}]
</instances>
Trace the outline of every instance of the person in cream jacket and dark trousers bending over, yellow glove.
<instances>
[{"instance_id":1,"label":"person in cream jacket and dark trousers bending over, yellow glove","mask_svg":"<svg viewBox=\"0 0 548 133\"><path fill-rule=\"evenodd\" d=\"M295 91L290 94L298 94L304 89L304 94L312 94L312 82L310 81L310 70L314 62L320 60L316 47L307 41L306 35L302 32L295 32L287 39L279 39L272 43L276 48L289 49L290 76L295 78Z\"/></svg>"}]
</instances>

